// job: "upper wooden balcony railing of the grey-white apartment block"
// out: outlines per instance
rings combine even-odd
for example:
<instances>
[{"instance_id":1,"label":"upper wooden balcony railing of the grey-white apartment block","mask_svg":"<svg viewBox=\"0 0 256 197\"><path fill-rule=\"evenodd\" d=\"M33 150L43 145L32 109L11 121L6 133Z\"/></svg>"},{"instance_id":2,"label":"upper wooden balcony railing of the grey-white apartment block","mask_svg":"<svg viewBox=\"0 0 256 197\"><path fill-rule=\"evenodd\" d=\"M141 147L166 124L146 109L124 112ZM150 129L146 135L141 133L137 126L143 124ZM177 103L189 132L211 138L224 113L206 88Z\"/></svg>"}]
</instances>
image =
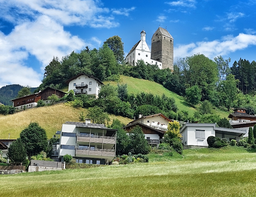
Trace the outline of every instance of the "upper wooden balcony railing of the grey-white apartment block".
<instances>
[{"instance_id":1,"label":"upper wooden balcony railing of the grey-white apartment block","mask_svg":"<svg viewBox=\"0 0 256 197\"><path fill-rule=\"evenodd\" d=\"M90 134L78 134L78 142L92 142L92 143L103 143L103 144L116 144L115 137L109 136L94 136L90 137Z\"/></svg>"}]
</instances>

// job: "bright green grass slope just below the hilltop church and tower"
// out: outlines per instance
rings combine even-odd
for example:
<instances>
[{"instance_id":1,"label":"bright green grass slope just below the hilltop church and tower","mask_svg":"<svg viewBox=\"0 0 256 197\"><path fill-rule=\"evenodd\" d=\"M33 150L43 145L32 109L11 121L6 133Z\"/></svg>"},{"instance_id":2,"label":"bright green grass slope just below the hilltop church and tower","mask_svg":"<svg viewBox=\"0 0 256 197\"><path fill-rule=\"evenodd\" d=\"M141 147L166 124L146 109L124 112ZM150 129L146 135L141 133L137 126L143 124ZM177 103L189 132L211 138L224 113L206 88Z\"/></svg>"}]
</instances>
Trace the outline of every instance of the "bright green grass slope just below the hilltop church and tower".
<instances>
[{"instance_id":1,"label":"bright green grass slope just below the hilltop church and tower","mask_svg":"<svg viewBox=\"0 0 256 197\"><path fill-rule=\"evenodd\" d=\"M117 86L117 82L113 82L113 81L104 82L104 84L107 84L107 83ZM190 116L193 116L194 112L196 111L196 109L194 107L192 107L190 104L188 104L186 102L184 97L181 97L181 96L177 95L176 93L169 91L168 89L164 88L162 85L160 85L154 81L148 81L145 79L121 76L119 83L124 83L124 84L126 83L129 93L137 94L140 92L145 92L145 93L152 93L154 95L160 95L160 96L162 94L165 94L167 97L172 97L176 101L178 110L186 110L186 111L188 111ZM229 113L225 112L225 111L217 110L217 114L219 114L221 118L224 118L224 117L227 118Z\"/></svg>"}]
</instances>

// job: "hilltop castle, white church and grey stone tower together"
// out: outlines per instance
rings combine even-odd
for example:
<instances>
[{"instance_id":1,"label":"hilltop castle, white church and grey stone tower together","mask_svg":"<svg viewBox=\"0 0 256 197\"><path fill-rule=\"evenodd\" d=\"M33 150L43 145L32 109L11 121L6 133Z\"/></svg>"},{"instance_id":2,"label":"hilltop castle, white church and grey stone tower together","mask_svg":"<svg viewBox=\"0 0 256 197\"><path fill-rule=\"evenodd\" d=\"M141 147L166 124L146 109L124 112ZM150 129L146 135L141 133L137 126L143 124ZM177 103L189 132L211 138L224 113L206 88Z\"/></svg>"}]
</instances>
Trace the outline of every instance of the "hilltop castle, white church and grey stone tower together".
<instances>
[{"instance_id":1,"label":"hilltop castle, white church and grey stone tower together","mask_svg":"<svg viewBox=\"0 0 256 197\"><path fill-rule=\"evenodd\" d=\"M146 43L146 32L140 32L138 41L125 58L126 63L135 65L136 61L158 65L159 69L169 68L173 71L173 37L164 28L159 27L151 39L151 51Z\"/></svg>"}]
</instances>

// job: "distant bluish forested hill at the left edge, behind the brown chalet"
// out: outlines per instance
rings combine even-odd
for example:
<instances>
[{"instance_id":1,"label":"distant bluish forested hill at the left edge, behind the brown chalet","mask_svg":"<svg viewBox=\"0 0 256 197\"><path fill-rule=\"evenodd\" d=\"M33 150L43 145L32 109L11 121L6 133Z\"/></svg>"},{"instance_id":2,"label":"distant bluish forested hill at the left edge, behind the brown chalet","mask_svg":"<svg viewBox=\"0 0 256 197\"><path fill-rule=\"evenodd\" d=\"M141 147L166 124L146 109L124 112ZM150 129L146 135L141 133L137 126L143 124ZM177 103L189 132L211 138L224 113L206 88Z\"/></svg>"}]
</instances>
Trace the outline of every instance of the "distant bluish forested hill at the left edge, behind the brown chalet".
<instances>
[{"instance_id":1,"label":"distant bluish forested hill at the left edge, behind the brown chalet","mask_svg":"<svg viewBox=\"0 0 256 197\"><path fill-rule=\"evenodd\" d=\"M18 91L20 91L23 86L19 84L6 85L0 89L0 102L4 105L12 105L12 102L9 101L14 99L18 95ZM30 91L34 92L36 88L31 88Z\"/></svg>"}]
</instances>

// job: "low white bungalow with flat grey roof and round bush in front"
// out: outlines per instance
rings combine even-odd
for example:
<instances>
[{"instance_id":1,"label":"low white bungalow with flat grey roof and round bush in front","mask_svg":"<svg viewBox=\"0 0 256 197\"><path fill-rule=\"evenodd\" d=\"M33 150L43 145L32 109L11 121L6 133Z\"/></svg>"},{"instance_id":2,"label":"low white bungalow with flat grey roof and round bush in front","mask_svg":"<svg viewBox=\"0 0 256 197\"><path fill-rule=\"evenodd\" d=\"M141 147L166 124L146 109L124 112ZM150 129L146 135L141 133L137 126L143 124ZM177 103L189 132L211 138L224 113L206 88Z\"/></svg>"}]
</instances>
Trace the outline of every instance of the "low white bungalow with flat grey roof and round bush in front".
<instances>
[{"instance_id":1,"label":"low white bungalow with flat grey roof and round bush in front","mask_svg":"<svg viewBox=\"0 0 256 197\"><path fill-rule=\"evenodd\" d=\"M246 134L246 130L216 127L212 123L187 123L181 130L182 144L184 149L206 148L207 138L216 136L227 140L240 140Z\"/></svg>"}]
</instances>

